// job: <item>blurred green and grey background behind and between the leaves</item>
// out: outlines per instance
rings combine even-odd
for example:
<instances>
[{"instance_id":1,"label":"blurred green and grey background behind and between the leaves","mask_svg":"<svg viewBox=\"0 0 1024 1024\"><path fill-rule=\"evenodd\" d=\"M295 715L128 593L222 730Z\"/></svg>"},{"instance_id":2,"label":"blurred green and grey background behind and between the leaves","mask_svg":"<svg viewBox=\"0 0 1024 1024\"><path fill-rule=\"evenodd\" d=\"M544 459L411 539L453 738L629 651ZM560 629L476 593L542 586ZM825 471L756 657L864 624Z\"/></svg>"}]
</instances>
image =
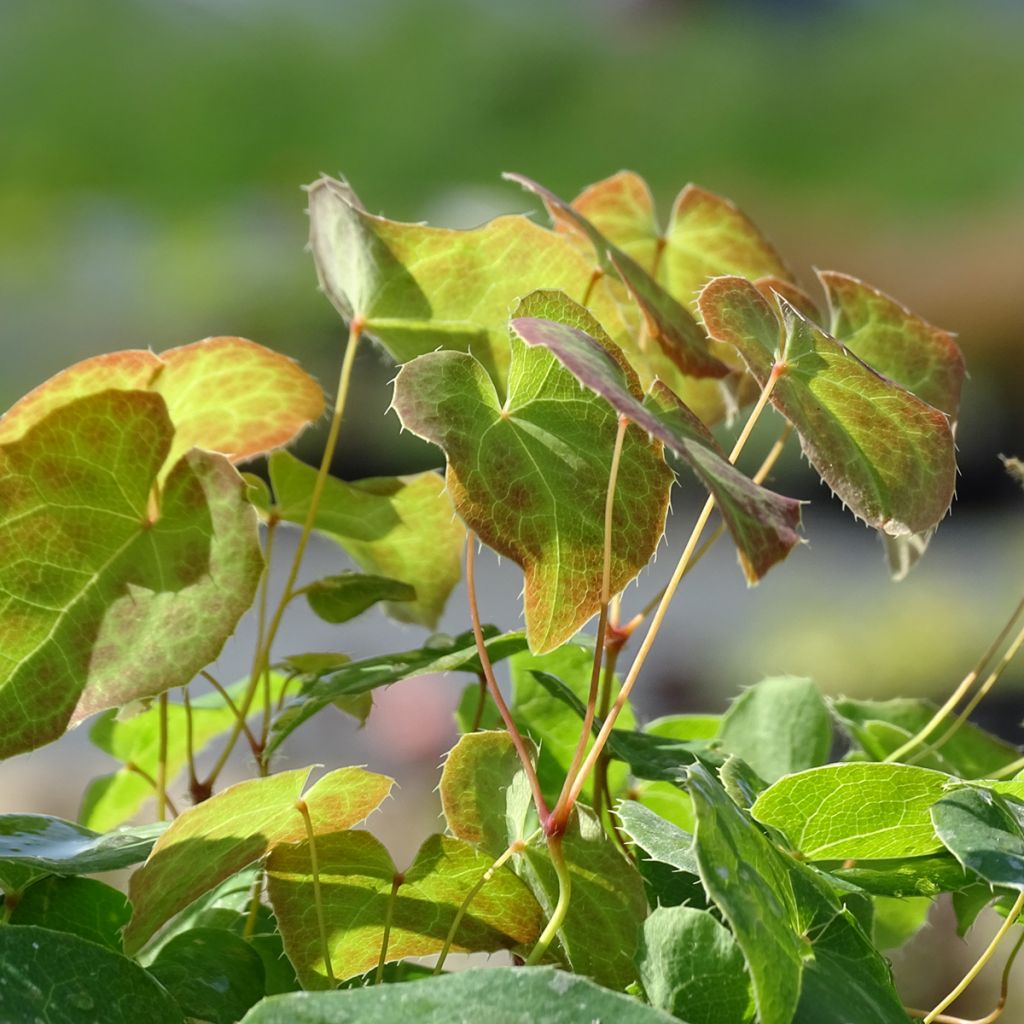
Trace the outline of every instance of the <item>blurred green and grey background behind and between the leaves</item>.
<instances>
[{"instance_id":1,"label":"blurred green and grey background behind and between the leaves","mask_svg":"<svg viewBox=\"0 0 1024 1024\"><path fill-rule=\"evenodd\" d=\"M791 453L774 485L812 501L810 544L753 592L720 545L677 600L641 709L721 709L775 672L858 696L944 693L1024 578L1024 495L996 458L1024 450L1022 42L1016 0L3 3L0 409L96 352L217 334L333 381L343 331L315 290L300 190L321 172L346 175L375 212L451 226L532 207L503 170L572 196L630 167L666 212L697 181L739 203L806 284L814 266L845 270L957 332L962 476L926 561L894 585L873 536ZM342 476L439 462L385 414L392 373L360 354ZM315 460L321 439L300 454ZM670 548L698 498L675 501ZM314 549L321 571L331 559ZM514 567L484 569L484 613L514 628ZM442 625L465 621L460 591ZM296 650L422 639L396 641L380 615L292 627ZM241 675L247 629L224 675ZM1011 671L982 710L1017 740L1022 684ZM412 835L407 811L385 812L411 852L432 826L459 688L394 687L361 732L339 716L291 757L395 772L401 806L427 821ZM0 809L74 816L82 773L110 767L80 733L0 766ZM935 955L918 963L934 973Z\"/></svg>"}]
</instances>

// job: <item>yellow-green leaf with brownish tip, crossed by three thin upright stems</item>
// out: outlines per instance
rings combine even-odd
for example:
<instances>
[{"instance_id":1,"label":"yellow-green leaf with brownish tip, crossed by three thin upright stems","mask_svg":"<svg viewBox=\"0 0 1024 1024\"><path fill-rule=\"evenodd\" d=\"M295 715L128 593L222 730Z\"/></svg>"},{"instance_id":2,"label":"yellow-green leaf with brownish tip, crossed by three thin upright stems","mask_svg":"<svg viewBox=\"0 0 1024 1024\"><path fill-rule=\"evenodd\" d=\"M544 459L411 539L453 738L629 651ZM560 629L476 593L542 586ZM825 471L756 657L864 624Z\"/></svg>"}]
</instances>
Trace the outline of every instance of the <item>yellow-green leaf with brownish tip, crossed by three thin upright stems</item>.
<instances>
[{"instance_id":1,"label":"yellow-green leaf with brownish tip, crossed by three thin upright stems","mask_svg":"<svg viewBox=\"0 0 1024 1024\"><path fill-rule=\"evenodd\" d=\"M377 965L390 923L387 959L440 952L456 912L494 858L468 843L432 836L400 874L387 850L367 831L317 838L316 854L331 962L338 978ZM392 885L400 885L391 898ZM267 884L288 958L304 988L330 987L313 905L309 845L279 846ZM390 906L389 906L390 904ZM529 890L501 868L473 897L453 950L519 949L537 940L545 920Z\"/></svg>"}]
</instances>

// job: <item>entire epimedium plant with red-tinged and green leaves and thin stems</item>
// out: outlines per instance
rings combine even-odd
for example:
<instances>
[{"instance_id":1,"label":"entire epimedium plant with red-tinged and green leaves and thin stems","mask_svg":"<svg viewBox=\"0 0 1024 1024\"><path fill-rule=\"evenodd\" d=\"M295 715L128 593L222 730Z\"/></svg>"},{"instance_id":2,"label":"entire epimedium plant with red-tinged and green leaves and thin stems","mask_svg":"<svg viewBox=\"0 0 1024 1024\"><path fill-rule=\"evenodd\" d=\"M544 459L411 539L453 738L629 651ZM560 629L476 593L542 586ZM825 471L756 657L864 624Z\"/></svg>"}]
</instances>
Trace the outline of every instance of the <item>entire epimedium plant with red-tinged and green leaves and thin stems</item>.
<instances>
[{"instance_id":1,"label":"entire epimedium plant with red-tinged and green leaves and thin stems","mask_svg":"<svg viewBox=\"0 0 1024 1024\"><path fill-rule=\"evenodd\" d=\"M801 502L765 486L793 434L909 571L953 496L953 339L838 272L819 308L701 188L662 229L632 173L571 203L510 177L550 227L398 223L344 181L310 186L319 282L348 325L318 470L287 445L319 386L238 338L87 359L0 420L0 756L91 719L118 763L78 822L0 816L4 1019L948 1022L1017 925L1024 760L969 716L1024 643L1024 601L941 708L825 700L793 677L721 716L640 725L630 703L723 532L750 584L801 543ZM330 475L368 340L399 365L393 410L443 452L443 481ZM769 407L777 438L744 470ZM712 431L734 422L726 453ZM266 474L240 475L258 456ZM707 502L668 585L627 607L680 471ZM300 586L313 532L356 568ZM521 567L522 631L483 625L478 544ZM299 599L339 626L380 604L430 630L463 571L459 636L350 660L283 635ZM252 670L225 684L209 667L253 606ZM390 778L310 784L279 753L328 708L365 720L375 689L439 672L468 679L445 829L399 870L357 827ZM218 785L240 743L252 777ZM151 800L156 820L128 823ZM127 895L92 878L125 867ZM939 1005L906 1008L885 954L944 894L962 934L986 905L1005 924ZM446 972L452 951L511 965Z\"/></svg>"}]
</instances>

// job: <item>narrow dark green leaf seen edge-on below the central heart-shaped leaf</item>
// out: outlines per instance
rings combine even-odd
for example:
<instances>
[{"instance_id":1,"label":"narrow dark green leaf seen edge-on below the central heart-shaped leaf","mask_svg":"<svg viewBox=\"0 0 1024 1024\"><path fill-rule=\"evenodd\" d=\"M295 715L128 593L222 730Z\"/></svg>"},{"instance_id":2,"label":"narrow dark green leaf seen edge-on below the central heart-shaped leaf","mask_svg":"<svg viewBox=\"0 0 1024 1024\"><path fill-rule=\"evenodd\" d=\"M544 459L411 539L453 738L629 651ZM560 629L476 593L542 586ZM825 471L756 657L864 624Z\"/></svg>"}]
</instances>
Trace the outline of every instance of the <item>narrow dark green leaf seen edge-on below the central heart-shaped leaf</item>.
<instances>
[{"instance_id":1,"label":"narrow dark green leaf seen edge-on below the central heart-shaped leaf","mask_svg":"<svg viewBox=\"0 0 1024 1024\"><path fill-rule=\"evenodd\" d=\"M521 633L498 634L493 626L484 627L484 636L487 654L495 665L526 646ZM475 675L480 671L476 641L471 632L457 637L438 634L431 637L425 646L414 650L342 665L323 678L314 677L301 693L288 702L273 721L264 757L273 754L303 722L339 699L369 693L380 686L389 686L413 676L442 672L471 672Z\"/></svg>"}]
</instances>

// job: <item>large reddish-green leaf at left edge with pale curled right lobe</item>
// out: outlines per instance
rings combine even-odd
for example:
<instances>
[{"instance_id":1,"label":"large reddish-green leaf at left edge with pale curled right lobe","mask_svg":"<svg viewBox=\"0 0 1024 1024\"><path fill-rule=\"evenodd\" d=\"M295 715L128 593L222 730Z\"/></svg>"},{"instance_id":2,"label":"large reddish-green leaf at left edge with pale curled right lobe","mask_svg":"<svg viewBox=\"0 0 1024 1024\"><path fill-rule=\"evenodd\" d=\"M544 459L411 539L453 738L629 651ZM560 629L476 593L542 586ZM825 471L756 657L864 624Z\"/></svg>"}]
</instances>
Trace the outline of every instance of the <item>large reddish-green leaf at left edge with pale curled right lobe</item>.
<instances>
[{"instance_id":1,"label":"large reddish-green leaf at left edge with pale curled right lobe","mask_svg":"<svg viewBox=\"0 0 1024 1024\"><path fill-rule=\"evenodd\" d=\"M150 514L172 434L159 395L104 391L0 447L0 757L188 682L249 607L263 560L222 457L184 456Z\"/></svg>"}]
</instances>

